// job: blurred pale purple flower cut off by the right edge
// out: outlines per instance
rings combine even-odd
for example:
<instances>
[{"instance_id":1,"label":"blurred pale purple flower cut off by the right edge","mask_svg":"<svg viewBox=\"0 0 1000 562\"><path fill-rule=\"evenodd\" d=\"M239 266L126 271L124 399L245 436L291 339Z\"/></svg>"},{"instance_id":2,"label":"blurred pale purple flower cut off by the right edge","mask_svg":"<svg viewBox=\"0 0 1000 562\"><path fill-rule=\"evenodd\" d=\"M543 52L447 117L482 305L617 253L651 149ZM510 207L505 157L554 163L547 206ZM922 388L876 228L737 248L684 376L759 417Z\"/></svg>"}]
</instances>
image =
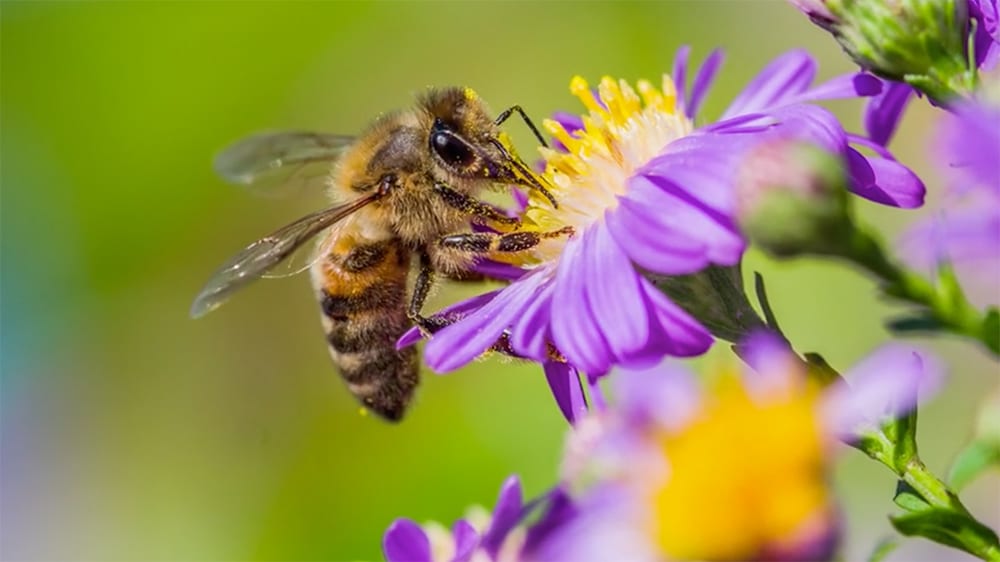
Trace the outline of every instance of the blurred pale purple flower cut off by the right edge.
<instances>
[{"instance_id":1,"label":"blurred pale purple flower cut off by the right edge","mask_svg":"<svg viewBox=\"0 0 1000 562\"><path fill-rule=\"evenodd\" d=\"M902 255L930 275L950 264L974 302L1000 304L1000 107L956 105L938 130L932 158L950 189L933 216L903 234Z\"/></svg>"}]
</instances>

